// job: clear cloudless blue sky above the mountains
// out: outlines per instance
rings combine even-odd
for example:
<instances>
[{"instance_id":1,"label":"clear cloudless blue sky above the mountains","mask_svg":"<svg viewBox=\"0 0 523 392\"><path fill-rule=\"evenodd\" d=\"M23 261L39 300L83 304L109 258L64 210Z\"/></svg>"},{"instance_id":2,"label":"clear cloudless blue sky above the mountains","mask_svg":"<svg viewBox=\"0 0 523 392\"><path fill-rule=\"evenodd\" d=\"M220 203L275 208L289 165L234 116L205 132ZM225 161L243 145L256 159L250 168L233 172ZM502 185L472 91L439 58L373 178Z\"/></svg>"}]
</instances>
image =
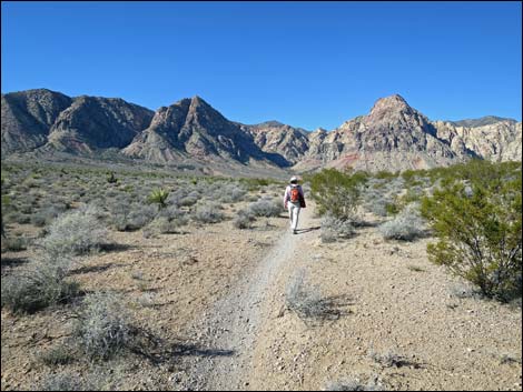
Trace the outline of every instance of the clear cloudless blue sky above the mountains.
<instances>
[{"instance_id":1,"label":"clear cloudless blue sky above the mountains","mask_svg":"<svg viewBox=\"0 0 523 392\"><path fill-rule=\"evenodd\" d=\"M1 90L198 94L230 120L333 129L402 94L430 119L521 120L520 2L2 1Z\"/></svg>"}]
</instances>

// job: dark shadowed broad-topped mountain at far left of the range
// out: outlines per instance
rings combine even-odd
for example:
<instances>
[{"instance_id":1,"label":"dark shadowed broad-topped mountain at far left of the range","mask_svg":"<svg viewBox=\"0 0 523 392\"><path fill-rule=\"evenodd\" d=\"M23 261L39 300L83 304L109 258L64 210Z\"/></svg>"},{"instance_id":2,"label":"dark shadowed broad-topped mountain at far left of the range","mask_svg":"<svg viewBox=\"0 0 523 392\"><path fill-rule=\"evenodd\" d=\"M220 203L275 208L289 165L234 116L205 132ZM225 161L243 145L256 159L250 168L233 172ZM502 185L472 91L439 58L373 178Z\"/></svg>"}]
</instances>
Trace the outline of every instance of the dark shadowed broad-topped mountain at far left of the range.
<instances>
[{"instance_id":1,"label":"dark shadowed broad-topped mountain at far left of the range","mask_svg":"<svg viewBox=\"0 0 523 392\"><path fill-rule=\"evenodd\" d=\"M46 89L2 94L2 155L36 148L121 149L149 125L152 113L118 98L70 98Z\"/></svg>"}]
</instances>

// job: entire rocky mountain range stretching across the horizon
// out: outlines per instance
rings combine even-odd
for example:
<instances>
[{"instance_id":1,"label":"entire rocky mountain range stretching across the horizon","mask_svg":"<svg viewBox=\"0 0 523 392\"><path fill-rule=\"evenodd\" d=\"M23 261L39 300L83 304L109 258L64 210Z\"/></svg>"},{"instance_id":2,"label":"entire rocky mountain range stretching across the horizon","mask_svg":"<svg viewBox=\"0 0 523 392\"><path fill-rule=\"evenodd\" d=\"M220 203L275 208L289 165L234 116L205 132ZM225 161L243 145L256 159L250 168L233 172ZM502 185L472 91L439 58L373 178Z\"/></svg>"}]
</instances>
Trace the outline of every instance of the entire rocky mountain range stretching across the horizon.
<instances>
[{"instance_id":1,"label":"entire rocky mountain range stretching across the horizon","mask_svg":"<svg viewBox=\"0 0 523 392\"><path fill-rule=\"evenodd\" d=\"M431 121L401 97L378 99L371 112L326 131L267 121L230 121L199 97L156 112L118 98L67 97L46 89L1 96L1 153L40 157L63 152L160 164L195 161L323 167L369 171L425 169L470 158L521 161L522 123L484 117Z\"/></svg>"}]
</instances>

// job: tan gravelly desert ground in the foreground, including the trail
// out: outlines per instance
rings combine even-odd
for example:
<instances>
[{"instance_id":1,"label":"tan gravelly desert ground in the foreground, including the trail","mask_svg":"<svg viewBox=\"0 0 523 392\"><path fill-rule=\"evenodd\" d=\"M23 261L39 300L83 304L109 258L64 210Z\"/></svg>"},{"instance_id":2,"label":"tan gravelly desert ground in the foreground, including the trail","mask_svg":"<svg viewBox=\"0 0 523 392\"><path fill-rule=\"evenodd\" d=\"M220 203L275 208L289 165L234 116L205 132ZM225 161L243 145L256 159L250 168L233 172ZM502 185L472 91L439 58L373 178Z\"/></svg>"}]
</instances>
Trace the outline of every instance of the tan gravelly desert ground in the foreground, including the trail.
<instances>
[{"instance_id":1,"label":"tan gravelly desert ground in the foreground, including the trail","mask_svg":"<svg viewBox=\"0 0 523 392\"><path fill-rule=\"evenodd\" d=\"M464 283L428 262L430 239L388 242L366 227L322 243L312 205L299 227L293 235L282 217L254 230L227 221L152 240L114 233L119 250L86 258L76 274L85 288L120 291L140 325L201 348L175 364L124 364L119 386L318 390L371 380L391 390L522 389L521 308L460 295ZM309 324L286 309L300 269L323 295L341 300L337 320ZM2 390L28 389L57 371L38 353L67 336L69 312L2 310ZM402 360L397 366L372 358L387 352Z\"/></svg>"}]
</instances>

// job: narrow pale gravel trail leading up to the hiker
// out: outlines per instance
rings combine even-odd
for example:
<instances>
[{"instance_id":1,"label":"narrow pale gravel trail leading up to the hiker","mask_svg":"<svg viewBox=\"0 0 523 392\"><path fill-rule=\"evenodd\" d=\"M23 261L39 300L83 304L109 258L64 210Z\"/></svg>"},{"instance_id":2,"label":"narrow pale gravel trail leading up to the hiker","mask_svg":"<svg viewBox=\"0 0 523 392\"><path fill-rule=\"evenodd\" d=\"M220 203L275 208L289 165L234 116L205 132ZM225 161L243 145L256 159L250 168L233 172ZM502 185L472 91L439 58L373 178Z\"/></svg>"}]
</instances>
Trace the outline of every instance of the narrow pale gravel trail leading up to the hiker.
<instances>
[{"instance_id":1,"label":"narrow pale gravel trail leading up to the hiker","mask_svg":"<svg viewBox=\"0 0 523 392\"><path fill-rule=\"evenodd\" d=\"M215 353L190 360L182 389L227 391L248 388L257 332L266 319L264 303L272 290L276 290L278 273L315 229L309 224L310 214L310 208L302 209L298 234L282 233L280 240L254 270L194 326L198 343Z\"/></svg>"}]
</instances>

